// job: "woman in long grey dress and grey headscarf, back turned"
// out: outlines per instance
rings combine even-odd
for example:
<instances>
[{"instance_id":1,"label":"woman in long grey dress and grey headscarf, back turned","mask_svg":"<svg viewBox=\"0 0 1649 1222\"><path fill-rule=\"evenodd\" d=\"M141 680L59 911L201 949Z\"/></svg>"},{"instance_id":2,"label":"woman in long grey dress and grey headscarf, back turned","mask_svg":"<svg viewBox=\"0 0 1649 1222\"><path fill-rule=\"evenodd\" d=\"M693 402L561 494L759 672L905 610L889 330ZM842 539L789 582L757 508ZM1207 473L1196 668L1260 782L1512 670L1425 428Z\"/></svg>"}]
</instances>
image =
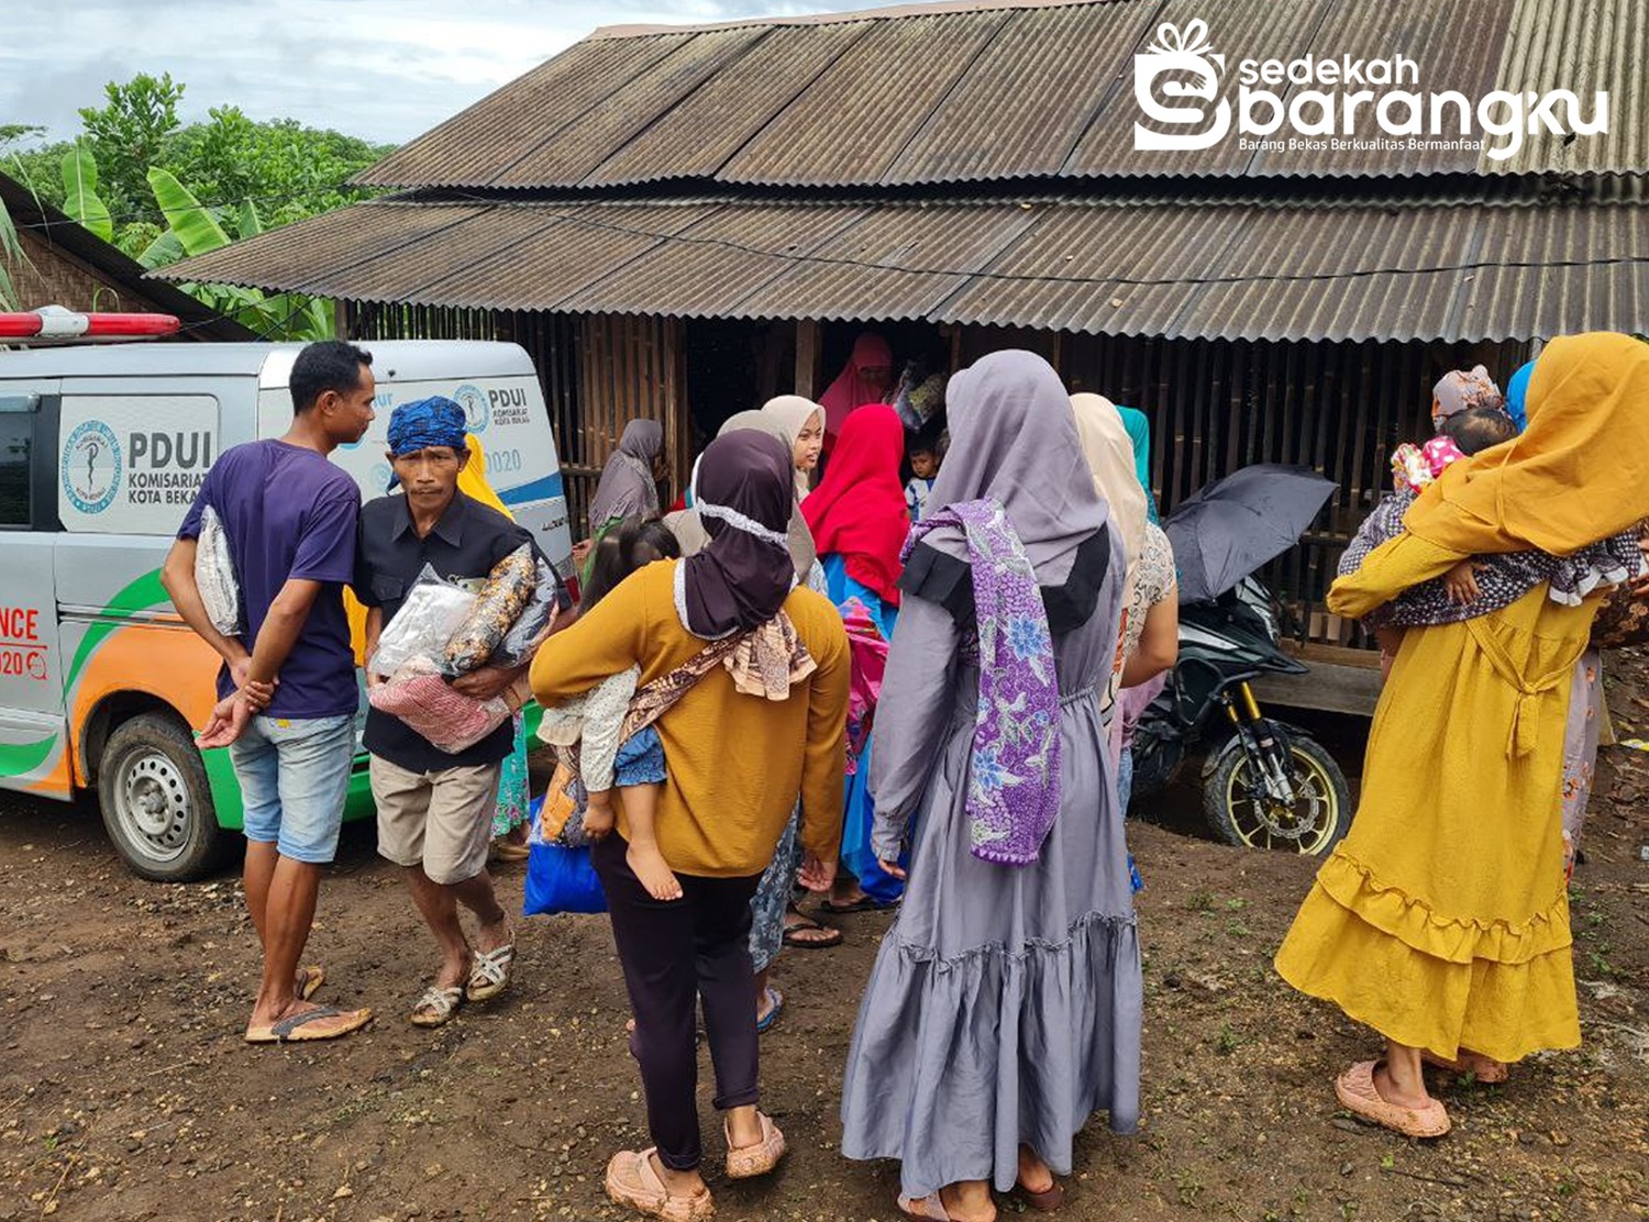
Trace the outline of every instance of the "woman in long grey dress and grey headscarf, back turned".
<instances>
[{"instance_id":1,"label":"woman in long grey dress and grey headscarf, back turned","mask_svg":"<svg viewBox=\"0 0 1649 1222\"><path fill-rule=\"evenodd\" d=\"M993 1186L1059 1204L1093 1112L1138 1121L1139 943L1100 724L1126 557L1042 358L988 356L947 404L871 767L872 843L897 862L914 823L910 879L848 1055L843 1153L899 1159L909 1217L989 1222Z\"/></svg>"}]
</instances>

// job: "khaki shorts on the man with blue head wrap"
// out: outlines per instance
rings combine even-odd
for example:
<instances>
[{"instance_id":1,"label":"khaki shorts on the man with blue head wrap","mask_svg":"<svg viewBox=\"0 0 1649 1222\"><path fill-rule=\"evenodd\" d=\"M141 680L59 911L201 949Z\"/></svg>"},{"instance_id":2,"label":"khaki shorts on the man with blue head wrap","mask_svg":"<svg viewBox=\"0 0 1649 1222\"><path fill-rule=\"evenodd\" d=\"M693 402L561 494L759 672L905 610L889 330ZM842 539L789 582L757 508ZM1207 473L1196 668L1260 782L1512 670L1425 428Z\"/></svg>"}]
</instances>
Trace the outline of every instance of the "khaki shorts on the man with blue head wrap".
<instances>
[{"instance_id":1,"label":"khaki shorts on the man with blue head wrap","mask_svg":"<svg viewBox=\"0 0 1649 1222\"><path fill-rule=\"evenodd\" d=\"M378 853L422 866L430 882L468 882L486 869L503 762L478 768L407 772L373 755Z\"/></svg>"}]
</instances>

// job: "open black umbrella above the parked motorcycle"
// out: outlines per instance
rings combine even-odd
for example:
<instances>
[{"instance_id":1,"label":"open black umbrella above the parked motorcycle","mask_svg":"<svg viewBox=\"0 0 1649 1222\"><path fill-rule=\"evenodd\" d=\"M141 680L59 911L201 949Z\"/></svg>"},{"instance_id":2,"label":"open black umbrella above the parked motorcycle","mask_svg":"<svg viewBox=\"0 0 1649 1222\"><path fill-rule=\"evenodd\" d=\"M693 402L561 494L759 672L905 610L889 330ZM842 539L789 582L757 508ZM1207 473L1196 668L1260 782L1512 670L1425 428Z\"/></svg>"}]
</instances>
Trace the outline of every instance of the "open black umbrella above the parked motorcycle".
<instances>
[{"instance_id":1,"label":"open black umbrella above the parked motorcycle","mask_svg":"<svg viewBox=\"0 0 1649 1222\"><path fill-rule=\"evenodd\" d=\"M1337 486L1309 467L1263 462L1196 491L1163 523L1181 602L1217 599L1293 548Z\"/></svg>"}]
</instances>

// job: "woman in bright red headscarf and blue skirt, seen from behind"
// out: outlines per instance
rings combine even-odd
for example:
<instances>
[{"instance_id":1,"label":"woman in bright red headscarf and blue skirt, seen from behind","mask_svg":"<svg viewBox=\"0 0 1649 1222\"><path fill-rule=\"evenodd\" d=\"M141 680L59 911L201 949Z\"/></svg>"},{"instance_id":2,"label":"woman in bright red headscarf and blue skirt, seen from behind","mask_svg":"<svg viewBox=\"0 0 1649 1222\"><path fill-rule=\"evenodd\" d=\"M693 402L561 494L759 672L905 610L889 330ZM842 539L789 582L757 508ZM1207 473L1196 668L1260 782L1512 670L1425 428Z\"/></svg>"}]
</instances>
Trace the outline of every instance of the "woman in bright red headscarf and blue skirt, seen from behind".
<instances>
[{"instance_id":1,"label":"woman in bright red headscarf and blue skirt, seen from behind","mask_svg":"<svg viewBox=\"0 0 1649 1222\"><path fill-rule=\"evenodd\" d=\"M871 719L882 688L887 642L899 617L899 551L910 533L910 511L899 467L905 427L886 404L867 404L843 422L824 482L801 503L829 600L841 610L853 646L853 696L848 707L848 792L841 864L824 912L889 907L904 884L871 851L874 808L866 788Z\"/></svg>"}]
</instances>

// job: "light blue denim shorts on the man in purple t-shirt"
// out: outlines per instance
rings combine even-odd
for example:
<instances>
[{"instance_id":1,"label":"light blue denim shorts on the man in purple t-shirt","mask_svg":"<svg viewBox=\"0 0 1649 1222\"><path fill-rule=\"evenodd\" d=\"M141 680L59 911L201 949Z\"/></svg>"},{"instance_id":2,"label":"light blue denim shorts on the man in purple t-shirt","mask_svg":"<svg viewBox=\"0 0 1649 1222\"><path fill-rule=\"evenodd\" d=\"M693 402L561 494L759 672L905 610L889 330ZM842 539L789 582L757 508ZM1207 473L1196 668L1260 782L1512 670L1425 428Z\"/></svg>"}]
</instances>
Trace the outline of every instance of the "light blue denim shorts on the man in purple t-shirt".
<instances>
[{"instance_id":1,"label":"light blue denim shorts on the man in purple t-shirt","mask_svg":"<svg viewBox=\"0 0 1649 1222\"><path fill-rule=\"evenodd\" d=\"M246 838L325 866L338 853L355 765L355 717L252 717L229 745Z\"/></svg>"}]
</instances>

